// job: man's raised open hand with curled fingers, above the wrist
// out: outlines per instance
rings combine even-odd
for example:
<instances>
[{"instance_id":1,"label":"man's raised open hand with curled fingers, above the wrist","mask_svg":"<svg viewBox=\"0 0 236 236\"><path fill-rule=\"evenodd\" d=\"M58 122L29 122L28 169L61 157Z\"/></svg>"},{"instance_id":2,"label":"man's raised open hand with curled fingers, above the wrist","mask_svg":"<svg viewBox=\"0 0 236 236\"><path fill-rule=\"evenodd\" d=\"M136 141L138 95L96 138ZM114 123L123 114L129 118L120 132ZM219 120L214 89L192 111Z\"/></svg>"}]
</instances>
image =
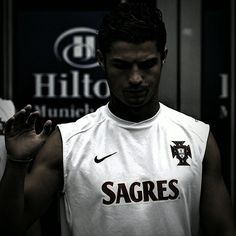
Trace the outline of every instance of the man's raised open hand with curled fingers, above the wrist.
<instances>
[{"instance_id":1,"label":"man's raised open hand with curled fingers, above the wrist","mask_svg":"<svg viewBox=\"0 0 236 236\"><path fill-rule=\"evenodd\" d=\"M50 135L50 120L44 123L41 133L36 133L35 122L38 117L39 112L32 112L32 106L27 105L6 122L6 149L15 159L27 160L34 157Z\"/></svg>"}]
</instances>

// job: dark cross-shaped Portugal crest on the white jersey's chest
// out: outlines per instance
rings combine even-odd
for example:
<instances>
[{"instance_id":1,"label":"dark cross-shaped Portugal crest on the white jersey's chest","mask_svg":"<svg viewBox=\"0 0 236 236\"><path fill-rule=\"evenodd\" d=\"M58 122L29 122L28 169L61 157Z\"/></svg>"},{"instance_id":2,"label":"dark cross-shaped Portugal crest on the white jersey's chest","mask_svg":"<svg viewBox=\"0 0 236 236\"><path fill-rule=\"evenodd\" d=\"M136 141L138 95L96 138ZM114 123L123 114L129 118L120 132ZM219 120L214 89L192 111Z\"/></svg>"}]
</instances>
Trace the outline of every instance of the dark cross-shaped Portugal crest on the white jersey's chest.
<instances>
[{"instance_id":1,"label":"dark cross-shaped Portugal crest on the white jersey's chest","mask_svg":"<svg viewBox=\"0 0 236 236\"><path fill-rule=\"evenodd\" d=\"M177 158L179 160L178 166L189 166L187 159L191 155L191 150L189 145L184 145L185 141L172 141L175 145L171 146L172 156L173 158Z\"/></svg>"}]
</instances>

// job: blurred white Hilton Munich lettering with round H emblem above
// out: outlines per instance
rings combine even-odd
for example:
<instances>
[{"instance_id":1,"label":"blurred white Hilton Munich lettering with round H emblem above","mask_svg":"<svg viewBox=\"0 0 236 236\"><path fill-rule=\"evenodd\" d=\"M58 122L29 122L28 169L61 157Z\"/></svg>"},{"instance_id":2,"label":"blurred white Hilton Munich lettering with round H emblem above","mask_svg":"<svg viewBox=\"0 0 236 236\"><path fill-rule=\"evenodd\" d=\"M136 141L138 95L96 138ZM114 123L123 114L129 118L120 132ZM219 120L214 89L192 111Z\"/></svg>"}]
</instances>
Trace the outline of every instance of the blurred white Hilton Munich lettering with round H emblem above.
<instances>
[{"instance_id":1,"label":"blurred white Hilton Munich lettering with round H emblem above","mask_svg":"<svg viewBox=\"0 0 236 236\"><path fill-rule=\"evenodd\" d=\"M33 99L37 101L34 108L40 111L43 118L80 118L96 109L93 101L103 101L109 97L106 79L91 75L91 71L98 70L99 66L96 60L96 34L95 29L87 27L63 32L56 38L53 52L58 63L73 69L62 73L32 74ZM62 100L64 104L65 100L68 102L66 106L53 106L52 99L57 104Z\"/></svg>"}]
</instances>

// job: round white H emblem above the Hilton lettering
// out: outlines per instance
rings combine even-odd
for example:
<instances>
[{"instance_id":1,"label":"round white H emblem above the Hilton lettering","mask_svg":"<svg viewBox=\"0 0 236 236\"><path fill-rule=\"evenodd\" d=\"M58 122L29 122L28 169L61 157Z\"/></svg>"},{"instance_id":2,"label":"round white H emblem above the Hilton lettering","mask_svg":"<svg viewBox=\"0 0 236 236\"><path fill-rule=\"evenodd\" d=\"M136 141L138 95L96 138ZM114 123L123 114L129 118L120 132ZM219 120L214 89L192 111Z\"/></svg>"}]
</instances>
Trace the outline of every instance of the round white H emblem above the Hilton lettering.
<instances>
[{"instance_id":1,"label":"round white H emblem above the Hilton lettering","mask_svg":"<svg viewBox=\"0 0 236 236\"><path fill-rule=\"evenodd\" d=\"M96 34L97 30L85 27L63 32L55 41L55 56L75 68L97 67Z\"/></svg>"}]
</instances>

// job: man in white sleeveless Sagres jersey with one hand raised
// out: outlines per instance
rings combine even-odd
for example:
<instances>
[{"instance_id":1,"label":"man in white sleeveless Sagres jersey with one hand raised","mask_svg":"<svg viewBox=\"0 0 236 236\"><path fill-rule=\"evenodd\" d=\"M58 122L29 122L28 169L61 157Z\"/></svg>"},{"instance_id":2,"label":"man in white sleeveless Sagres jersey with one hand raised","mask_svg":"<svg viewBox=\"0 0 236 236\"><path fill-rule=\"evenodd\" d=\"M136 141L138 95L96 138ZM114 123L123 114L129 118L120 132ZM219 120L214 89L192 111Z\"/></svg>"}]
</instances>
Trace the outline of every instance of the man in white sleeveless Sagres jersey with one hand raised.
<instances>
[{"instance_id":1,"label":"man in white sleeveless Sagres jersey with one hand raised","mask_svg":"<svg viewBox=\"0 0 236 236\"><path fill-rule=\"evenodd\" d=\"M1 226L23 232L62 192L73 236L199 235L200 222L206 235L235 235L209 126L158 101L167 55L161 12L121 4L98 40L108 105L59 125L44 145L30 105L7 122Z\"/></svg>"}]
</instances>

